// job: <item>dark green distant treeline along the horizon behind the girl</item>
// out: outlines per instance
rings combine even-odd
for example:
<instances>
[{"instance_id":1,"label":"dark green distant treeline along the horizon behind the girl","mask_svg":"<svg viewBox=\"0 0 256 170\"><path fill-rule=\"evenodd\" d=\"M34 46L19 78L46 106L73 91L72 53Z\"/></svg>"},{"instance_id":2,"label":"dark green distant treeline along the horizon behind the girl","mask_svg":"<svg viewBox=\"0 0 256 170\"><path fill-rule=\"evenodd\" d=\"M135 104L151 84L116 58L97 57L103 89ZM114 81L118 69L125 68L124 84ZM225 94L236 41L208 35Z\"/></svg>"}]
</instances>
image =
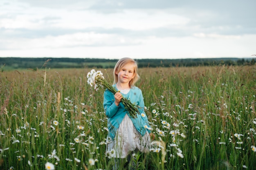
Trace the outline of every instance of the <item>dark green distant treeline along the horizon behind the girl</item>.
<instances>
[{"instance_id":1,"label":"dark green distant treeline along the horizon behind the girl","mask_svg":"<svg viewBox=\"0 0 256 170\"><path fill-rule=\"evenodd\" d=\"M188 59L135 59L139 67L196 67L215 65L254 65L254 58L188 58ZM0 58L1 71L5 69L40 68L113 68L117 59L101 58Z\"/></svg>"}]
</instances>

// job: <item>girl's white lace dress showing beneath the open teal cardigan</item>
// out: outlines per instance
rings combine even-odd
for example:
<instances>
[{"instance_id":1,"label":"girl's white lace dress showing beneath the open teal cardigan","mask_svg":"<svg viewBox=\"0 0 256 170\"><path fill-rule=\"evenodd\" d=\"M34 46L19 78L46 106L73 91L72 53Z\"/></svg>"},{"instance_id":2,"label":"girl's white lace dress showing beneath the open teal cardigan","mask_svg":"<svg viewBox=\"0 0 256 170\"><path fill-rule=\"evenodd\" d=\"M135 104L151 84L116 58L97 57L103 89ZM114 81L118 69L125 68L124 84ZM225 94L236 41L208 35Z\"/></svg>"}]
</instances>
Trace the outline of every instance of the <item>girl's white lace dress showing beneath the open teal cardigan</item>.
<instances>
[{"instance_id":1,"label":"girl's white lace dress showing beneath the open teal cardigan","mask_svg":"<svg viewBox=\"0 0 256 170\"><path fill-rule=\"evenodd\" d=\"M121 90L121 93L127 94L129 90ZM108 137L107 143L107 151L115 151L112 157L126 158L130 152L136 149L141 152L148 152L151 139L148 132L144 136L141 136L133 125L132 120L126 114L115 134L115 139Z\"/></svg>"}]
</instances>

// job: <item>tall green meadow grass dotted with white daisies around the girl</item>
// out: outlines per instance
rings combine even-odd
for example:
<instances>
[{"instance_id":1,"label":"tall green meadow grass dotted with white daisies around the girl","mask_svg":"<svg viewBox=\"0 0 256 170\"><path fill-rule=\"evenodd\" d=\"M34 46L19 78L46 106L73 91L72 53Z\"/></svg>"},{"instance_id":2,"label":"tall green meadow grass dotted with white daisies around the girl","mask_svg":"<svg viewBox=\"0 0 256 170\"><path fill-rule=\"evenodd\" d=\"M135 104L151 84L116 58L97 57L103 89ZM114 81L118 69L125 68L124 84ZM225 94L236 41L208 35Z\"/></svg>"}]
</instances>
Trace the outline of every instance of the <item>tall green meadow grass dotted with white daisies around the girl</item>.
<instances>
[{"instance_id":1,"label":"tall green meadow grass dotted with white daisies around the girl","mask_svg":"<svg viewBox=\"0 0 256 170\"><path fill-rule=\"evenodd\" d=\"M90 69L0 73L0 169L112 169L106 154L104 89ZM112 83L113 69L99 69ZM256 67L141 68L152 149L137 169L256 167ZM108 77L109 76L109 77ZM121 167L127 164L124 159Z\"/></svg>"}]
</instances>

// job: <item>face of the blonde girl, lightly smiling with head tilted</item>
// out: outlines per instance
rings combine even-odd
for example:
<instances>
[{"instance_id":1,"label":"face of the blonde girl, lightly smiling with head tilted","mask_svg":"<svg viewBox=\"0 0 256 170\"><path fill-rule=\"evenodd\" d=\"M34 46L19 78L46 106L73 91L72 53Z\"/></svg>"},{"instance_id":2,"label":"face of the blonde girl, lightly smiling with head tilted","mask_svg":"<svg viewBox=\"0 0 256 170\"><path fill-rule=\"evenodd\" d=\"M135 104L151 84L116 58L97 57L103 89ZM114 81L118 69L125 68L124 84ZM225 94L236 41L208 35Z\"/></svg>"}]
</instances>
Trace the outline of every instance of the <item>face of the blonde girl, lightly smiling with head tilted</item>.
<instances>
[{"instance_id":1,"label":"face of the blonde girl, lightly smiling with head tilted","mask_svg":"<svg viewBox=\"0 0 256 170\"><path fill-rule=\"evenodd\" d=\"M115 74L117 74L118 83L129 83L135 76L134 65L132 63L128 63L124 65L119 72L116 71Z\"/></svg>"}]
</instances>

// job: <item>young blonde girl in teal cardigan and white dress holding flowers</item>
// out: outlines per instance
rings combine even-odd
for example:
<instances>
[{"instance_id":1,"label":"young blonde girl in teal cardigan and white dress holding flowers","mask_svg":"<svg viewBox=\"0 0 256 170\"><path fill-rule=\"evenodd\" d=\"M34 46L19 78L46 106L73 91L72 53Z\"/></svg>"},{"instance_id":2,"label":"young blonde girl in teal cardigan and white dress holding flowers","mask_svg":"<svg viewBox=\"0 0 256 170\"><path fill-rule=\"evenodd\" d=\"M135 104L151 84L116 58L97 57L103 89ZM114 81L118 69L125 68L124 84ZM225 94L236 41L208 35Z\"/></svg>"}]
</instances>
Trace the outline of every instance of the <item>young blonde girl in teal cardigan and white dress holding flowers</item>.
<instances>
[{"instance_id":1,"label":"young blonde girl in teal cardigan and white dress holding flowers","mask_svg":"<svg viewBox=\"0 0 256 170\"><path fill-rule=\"evenodd\" d=\"M104 110L108 117L108 145L107 151L114 150L112 157L126 158L139 150L148 152L150 147L150 125L144 112L144 100L142 92L135 87L139 79L137 63L131 58L121 58L114 68L114 87L116 94L108 89L104 92ZM130 118L128 111L121 103L121 98L128 98L131 103L139 106L140 114L137 118ZM148 128L145 128L145 125ZM118 159L115 159L113 169L119 169Z\"/></svg>"}]
</instances>

